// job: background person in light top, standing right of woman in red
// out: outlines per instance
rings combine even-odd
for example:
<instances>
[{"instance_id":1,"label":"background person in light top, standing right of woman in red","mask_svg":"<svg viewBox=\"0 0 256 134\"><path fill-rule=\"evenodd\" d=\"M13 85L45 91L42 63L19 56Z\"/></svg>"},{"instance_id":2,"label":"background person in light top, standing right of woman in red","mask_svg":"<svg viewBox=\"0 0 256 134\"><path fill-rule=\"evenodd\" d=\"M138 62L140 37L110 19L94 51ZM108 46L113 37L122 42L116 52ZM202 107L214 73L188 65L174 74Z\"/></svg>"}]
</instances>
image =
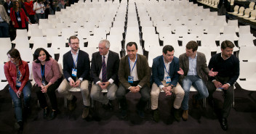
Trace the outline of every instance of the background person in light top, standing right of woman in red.
<instances>
[{"instance_id":1,"label":"background person in light top, standing right of woman in red","mask_svg":"<svg viewBox=\"0 0 256 134\"><path fill-rule=\"evenodd\" d=\"M43 0L38 0L33 4L33 11L36 12L36 22L39 23L39 19L45 19Z\"/></svg>"}]
</instances>

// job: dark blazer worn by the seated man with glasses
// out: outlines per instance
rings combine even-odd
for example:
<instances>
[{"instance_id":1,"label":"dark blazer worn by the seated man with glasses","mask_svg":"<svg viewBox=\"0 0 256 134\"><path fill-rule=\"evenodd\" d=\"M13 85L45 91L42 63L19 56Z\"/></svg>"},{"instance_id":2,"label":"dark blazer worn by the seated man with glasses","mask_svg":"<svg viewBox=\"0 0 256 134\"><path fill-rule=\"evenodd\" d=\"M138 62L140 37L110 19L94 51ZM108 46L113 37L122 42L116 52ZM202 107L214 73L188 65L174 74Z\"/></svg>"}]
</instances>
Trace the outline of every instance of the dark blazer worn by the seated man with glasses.
<instances>
[{"instance_id":1,"label":"dark blazer worn by the seated man with glasses","mask_svg":"<svg viewBox=\"0 0 256 134\"><path fill-rule=\"evenodd\" d=\"M73 57L71 51L68 51L63 55L63 75L65 79L72 78L76 81L76 78L72 76ZM79 49L79 56L77 57L77 78L83 78L83 80L89 80L89 55L85 51Z\"/></svg>"}]
</instances>

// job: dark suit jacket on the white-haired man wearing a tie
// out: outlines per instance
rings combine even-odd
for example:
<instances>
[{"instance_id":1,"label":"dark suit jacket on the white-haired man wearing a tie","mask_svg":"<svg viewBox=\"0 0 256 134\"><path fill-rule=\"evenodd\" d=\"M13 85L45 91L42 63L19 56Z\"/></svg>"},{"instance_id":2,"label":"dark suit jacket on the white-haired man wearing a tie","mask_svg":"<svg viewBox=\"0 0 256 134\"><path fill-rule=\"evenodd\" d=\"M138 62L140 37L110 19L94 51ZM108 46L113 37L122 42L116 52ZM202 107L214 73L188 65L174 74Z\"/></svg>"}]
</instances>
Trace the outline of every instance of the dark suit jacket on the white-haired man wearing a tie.
<instances>
[{"instance_id":1,"label":"dark suit jacket on the white-haired man wearing a tie","mask_svg":"<svg viewBox=\"0 0 256 134\"><path fill-rule=\"evenodd\" d=\"M119 83L118 70L119 70L119 54L113 51L108 51L108 62L107 62L107 79L113 79L116 85ZM100 81L99 75L102 68L103 58L100 52L97 51L92 54L92 67L91 67L91 77L94 83Z\"/></svg>"}]
</instances>

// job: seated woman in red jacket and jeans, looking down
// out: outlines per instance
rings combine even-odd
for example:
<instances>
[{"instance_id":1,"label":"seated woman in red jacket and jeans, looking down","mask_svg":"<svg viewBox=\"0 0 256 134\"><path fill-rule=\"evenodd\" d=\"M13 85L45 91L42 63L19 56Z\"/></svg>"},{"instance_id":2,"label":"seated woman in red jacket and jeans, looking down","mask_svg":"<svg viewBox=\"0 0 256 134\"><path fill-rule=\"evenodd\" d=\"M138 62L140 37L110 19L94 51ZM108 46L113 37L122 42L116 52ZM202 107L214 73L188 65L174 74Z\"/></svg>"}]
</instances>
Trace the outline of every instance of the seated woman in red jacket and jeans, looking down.
<instances>
[{"instance_id":1,"label":"seated woman in red jacket and jeans, looking down","mask_svg":"<svg viewBox=\"0 0 256 134\"><path fill-rule=\"evenodd\" d=\"M9 62L4 64L4 74L9 83L9 94L15 106L15 115L19 128L18 133L23 132L23 113L30 112L29 102L31 99L31 82L29 79L28 63L21 60L20 52L11 49L7 52ZM23 93L24 112L22 112L21 95Z\"/></svg>"}]
</instances>

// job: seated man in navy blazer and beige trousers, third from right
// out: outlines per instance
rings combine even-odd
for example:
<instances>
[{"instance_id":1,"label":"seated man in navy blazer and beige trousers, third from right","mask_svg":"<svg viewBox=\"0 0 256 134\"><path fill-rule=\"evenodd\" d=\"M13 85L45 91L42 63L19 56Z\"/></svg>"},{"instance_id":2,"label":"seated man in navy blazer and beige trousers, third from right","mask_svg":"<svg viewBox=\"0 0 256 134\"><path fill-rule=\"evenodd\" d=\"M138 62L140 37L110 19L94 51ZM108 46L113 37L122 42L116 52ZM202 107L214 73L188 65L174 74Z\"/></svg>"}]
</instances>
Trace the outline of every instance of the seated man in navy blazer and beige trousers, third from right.
<instances>
[{"instance_id":1,"label":"seated man in navy blazer and beige trousers, third from right","mask_svg":"<svg viewBox=\"0 0 256 134\"><path fill-rule=\"evenodd\" d=\"M174 53L174 48L167 45L163 48L163 54L153 59L151 109L153 110L153 120L156 122L159 122L158 99L160 91L164 91L166 96L175 93L174 116L177 121L180 121L178 109L180 109L183 101L184 91L178 83L180 77L177 73L179 71L179 59L174 56Z\"/></svg>"}]
</instances>

